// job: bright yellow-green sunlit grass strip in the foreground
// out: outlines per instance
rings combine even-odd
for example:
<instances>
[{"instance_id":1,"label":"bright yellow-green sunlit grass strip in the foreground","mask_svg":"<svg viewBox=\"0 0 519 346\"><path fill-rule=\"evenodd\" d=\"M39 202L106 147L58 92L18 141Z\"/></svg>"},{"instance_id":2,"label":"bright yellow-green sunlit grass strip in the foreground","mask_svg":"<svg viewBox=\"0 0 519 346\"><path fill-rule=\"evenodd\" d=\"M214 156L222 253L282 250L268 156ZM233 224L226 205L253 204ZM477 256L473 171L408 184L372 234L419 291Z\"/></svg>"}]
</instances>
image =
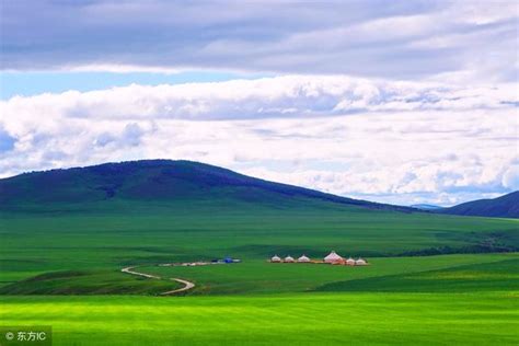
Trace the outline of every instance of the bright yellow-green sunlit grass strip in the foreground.
<instances>
[{"instance_id":1,"label":"bright yellow-green sunlit grass strip in the foreground","mask_svg":"<svg viewBox=\"0 0 519 346\"><path fill-rule=\"evenodd\" d=\"M54 345L517 345L517 293L0 297Z\"/></svg>"}]
</instances>

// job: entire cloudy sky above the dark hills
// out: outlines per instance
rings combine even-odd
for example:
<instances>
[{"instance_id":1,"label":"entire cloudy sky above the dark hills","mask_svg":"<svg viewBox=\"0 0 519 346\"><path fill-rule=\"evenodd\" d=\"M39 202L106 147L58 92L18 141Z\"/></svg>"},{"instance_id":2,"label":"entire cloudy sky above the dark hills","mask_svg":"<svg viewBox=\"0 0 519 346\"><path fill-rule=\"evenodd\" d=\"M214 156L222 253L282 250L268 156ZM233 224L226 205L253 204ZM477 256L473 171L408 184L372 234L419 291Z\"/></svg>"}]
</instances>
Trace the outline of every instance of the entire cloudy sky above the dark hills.
<instances>
[{"instance_id":1,"label":"entire cloudy sky above the dark hills","mask_svg":"<svg viewBox=\"0 0 519 346\"><path fill-rule=\"evenodd\" d=\"M381 203L519 189L515 1L3 1L0 177L184 159Z\"/></svg>"}]
</instances>

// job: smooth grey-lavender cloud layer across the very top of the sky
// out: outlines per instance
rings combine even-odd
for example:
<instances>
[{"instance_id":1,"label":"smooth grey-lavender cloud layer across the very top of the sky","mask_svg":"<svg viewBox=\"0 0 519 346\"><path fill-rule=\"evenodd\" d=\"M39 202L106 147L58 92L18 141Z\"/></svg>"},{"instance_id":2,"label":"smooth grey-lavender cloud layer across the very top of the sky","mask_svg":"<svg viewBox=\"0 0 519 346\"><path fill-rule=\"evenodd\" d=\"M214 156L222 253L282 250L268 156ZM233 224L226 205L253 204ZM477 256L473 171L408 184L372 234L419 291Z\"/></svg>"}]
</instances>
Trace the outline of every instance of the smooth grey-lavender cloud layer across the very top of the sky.
<instances>
[{"instance_id":1,"label":"smooth grey-lavender cloud layer across the very top of the sky","mask_svg":"<svg viewBox=\"0 0 519 346\"><path fill-rule=\"evenodd\" d=\"M515 1L16 0L7 70L246 70L517 79Z\"/></svg>"}]
</instances>

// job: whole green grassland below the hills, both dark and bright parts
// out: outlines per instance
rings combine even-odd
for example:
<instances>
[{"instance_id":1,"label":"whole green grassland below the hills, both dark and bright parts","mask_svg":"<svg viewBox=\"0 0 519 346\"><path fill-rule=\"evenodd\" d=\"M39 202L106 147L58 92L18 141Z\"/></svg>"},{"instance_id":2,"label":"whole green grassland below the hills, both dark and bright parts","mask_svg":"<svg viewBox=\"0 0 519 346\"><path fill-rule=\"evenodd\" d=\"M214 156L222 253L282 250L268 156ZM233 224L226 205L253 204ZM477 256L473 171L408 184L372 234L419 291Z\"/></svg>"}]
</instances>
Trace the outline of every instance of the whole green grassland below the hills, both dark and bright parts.
<instances>
[{"instance_id":1,"label":"whole green grassland below the hills, both dark and bright parts","mask_svg":"<svg viewBox=\"0 0 519 346\"><path fill-rule=\"evenodd\" d=\"M320 204L101 209L0 215L1 324L53 325L55 345L519 341L517 220ZM330 250L370 266L265 261ZM243 263L157 266L227 255ZM178 284L128 265L196 287L154 297Z\"/></svg>"}]
</instances>

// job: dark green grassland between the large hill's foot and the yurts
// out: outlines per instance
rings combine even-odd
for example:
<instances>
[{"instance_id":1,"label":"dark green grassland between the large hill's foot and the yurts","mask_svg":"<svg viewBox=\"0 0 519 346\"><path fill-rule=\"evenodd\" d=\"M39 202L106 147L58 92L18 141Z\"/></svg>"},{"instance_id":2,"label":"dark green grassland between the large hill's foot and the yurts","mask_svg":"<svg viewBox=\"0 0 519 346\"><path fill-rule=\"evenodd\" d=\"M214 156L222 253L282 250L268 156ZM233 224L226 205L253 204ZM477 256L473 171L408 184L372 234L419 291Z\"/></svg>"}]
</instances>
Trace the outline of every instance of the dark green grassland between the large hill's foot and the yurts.
<instances>
[{"instance_id":1,"label":"dark green grassland between the large hill's foot and the yurts","mask_svg":"<svg viewBox=\"0 0 519 346\"><path fill-rule=\"evenodd\" d=\"M321 257L334 249L372 257L438 246L471 250L488 242L514 249L519 243L518 222L507 219L331 208L319 203L304 208L231 203L218 208L152 204L139 208L132 214L3 214L0 285L58 270L113 277L130 264L226 255L245 261L275 253Z\"/></svg>"}]
</instances>

